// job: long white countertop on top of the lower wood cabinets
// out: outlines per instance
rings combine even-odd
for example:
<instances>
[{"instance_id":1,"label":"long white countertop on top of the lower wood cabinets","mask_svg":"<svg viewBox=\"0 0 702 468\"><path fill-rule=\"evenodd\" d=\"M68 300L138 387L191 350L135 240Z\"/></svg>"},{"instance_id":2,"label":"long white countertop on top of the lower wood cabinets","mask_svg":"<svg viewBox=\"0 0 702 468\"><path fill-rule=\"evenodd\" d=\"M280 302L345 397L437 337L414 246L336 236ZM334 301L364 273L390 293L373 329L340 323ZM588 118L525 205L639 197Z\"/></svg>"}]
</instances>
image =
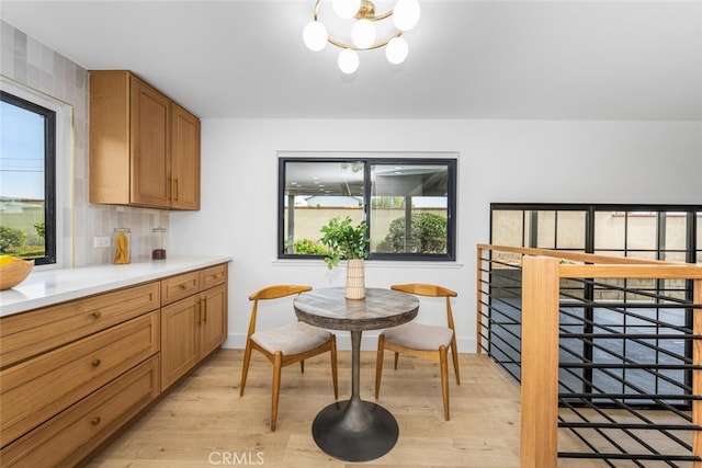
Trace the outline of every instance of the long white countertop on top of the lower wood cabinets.
<instances>
[{"instance_id":1,"label":"long white countertop on top of the lower wood cabinets","mask_svg":"<svg viewBox=\"0 0 702 468\"><path fill-rule=\"evenodd\" d=\"M0 292L0 317L230 262L230 256L174 256L126 265L34 271Z\"/></svg>"}]
</instances>

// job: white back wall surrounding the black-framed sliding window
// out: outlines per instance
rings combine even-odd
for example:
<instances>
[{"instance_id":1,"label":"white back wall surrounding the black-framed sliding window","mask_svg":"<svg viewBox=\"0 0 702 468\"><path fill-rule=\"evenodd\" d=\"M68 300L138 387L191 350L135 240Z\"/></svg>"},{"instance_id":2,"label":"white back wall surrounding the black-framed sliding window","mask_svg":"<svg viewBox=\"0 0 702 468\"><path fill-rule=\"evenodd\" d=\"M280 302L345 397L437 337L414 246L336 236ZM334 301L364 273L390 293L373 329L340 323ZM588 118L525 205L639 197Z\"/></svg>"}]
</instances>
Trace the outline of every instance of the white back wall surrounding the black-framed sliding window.
<instances>
[{"instance_id":1,"label":"white back wall surrounding the black-framed sliding window","mask_svg":"<svg viewBox=\"0 0 702 468\"><path fill-rule=\"evenodd\" d=\"M249 294L269 284L342 286L343 269L275 259L279 150L457 151L455 263L366 262L366 286L429 282L458 293L458 347L475 351L475 246L489 204L702 204L702 123L204 119L202 209L171 214L171 250L230 254L228 347L242 347ZM442 304L422 299L419 320ZM292 307L270 308L292 319ZM278 318L264 318L274 323ZM375 349L376 332L363 349ZM348 349L343 333L339 346Z\"/></svg>"}]
</instances>

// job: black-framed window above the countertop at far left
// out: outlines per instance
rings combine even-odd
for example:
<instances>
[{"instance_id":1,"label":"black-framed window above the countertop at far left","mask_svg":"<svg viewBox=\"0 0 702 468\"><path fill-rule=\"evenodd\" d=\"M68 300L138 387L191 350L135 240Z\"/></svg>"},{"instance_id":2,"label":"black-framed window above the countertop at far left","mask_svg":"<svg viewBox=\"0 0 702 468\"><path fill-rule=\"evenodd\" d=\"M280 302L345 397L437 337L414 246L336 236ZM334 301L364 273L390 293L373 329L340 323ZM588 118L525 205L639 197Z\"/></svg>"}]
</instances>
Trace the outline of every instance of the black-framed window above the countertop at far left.
<instances>
[{"instance_id":1,"label":"black-framed window above the countertop at far left","mask_svg":"<svg viewBox=\"0 0 702 468\"><path fill-rule=\"evenodd\" d=\"M56 262L56 113L13 94L0 102L0 254Z\"/></svg>"}]
</instances>

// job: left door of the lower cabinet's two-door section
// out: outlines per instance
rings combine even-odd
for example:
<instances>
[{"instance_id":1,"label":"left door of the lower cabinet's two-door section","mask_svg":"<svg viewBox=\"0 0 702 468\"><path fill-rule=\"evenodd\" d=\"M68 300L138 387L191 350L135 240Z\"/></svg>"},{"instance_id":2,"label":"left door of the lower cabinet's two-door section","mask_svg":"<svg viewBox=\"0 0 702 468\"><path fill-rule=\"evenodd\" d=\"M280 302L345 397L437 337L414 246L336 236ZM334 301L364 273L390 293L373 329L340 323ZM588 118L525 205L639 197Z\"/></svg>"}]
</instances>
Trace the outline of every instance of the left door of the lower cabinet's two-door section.
<instances>
[{"instance_id":1,"label":"left door of the lower cabinet's two-door section","mask_svg":"<svg viewBox=\"0 0 702 468\"><path fill-rule=\"evenodd\" d=\"M161 390L199 361L200 297L194 295L161 308Z\"/></svg>"}]
</instances>

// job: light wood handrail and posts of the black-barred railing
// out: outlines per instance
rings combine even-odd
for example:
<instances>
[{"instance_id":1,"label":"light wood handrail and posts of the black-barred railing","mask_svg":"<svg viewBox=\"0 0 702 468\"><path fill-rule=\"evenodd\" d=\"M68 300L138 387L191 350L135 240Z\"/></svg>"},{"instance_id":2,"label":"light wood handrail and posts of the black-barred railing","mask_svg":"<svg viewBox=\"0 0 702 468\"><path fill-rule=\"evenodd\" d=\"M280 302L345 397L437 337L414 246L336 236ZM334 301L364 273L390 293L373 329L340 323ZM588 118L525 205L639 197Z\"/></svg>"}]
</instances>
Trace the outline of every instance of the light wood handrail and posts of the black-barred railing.
<instances>
[{"instance_id":1,"label":"light wood handrail and posts of the black-barred railing","mask_svg":"<svg viewBox=\"0 0 702 468\"><path fill-rule=\"evenodd\" d=\"M702 265L494 244L477 246L477 343L480 352L484 251L520 253L522 259L521 466L555 468L558 432L558 300L563 278L691 279L695 305L702 304ZM564 263L567 262L579 262ZM693 333L702 335L702 309L693 309ZM702 364L695 340L693 364ZM693 395L702 395L702 372L694 370ZM692 402L693 424L702 425L702 401ZM692 435L692 455L702 457L702 432ZM702 468L694 461L693 468Z\"/></svg>"}]
</instances>

